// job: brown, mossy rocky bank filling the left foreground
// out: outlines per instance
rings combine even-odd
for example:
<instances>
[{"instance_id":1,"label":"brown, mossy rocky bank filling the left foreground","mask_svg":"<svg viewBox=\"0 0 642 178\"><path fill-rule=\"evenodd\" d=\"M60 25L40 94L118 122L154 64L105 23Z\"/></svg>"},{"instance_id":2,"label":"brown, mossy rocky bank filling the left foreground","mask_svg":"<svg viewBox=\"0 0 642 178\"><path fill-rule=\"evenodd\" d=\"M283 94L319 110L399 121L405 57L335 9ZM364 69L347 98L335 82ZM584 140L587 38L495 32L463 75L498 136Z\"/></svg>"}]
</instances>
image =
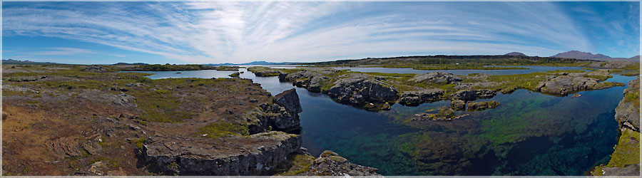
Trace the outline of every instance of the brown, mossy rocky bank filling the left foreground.
<instances>
[{"instance_id":1,"label":"brown, mossy rocky bank filling the left foreground","mask_svg":"<svg viewBox=\"0 0 642 178\"><path fill-rule=\"evenodd\" d=\"M3 68L4 175L272 175L307 154L294 89L272 96L248 79L151 80L101 66ZM305 172L378 175L337 160Z\"/></svg>"}]
</instances>

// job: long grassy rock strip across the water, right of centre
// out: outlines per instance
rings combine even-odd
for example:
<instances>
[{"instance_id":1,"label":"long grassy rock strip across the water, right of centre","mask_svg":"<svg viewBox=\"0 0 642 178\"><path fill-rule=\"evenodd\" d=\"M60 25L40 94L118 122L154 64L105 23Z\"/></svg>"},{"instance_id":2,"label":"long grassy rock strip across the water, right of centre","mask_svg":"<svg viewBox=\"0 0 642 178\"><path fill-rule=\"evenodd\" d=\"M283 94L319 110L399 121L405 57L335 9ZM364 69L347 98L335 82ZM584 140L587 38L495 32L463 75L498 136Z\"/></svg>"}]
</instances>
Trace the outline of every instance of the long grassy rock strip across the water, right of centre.
<instances>
[{"instance_id":1,"label":"long grassy rock strip across the water, right of centre","mask_svg":"<svg viewBox=\"0 0 642 178\"><path fill-rule=\"evenodd\" d=\"M337 103L378 111L399 103L417 106L439 100L474 101L493 98L498 92L526 89L546 95L566 96L584 90L601 90L623 83L606 82L609 70L554 70L525 75L453 75L444 72L422 74L358 73L332 68L282 70L253 68L258 77L278 75L280 82L292 83L315 93L324 93ZM259 73L259 74L256 74Z\"/></svg>"}]
</instances>

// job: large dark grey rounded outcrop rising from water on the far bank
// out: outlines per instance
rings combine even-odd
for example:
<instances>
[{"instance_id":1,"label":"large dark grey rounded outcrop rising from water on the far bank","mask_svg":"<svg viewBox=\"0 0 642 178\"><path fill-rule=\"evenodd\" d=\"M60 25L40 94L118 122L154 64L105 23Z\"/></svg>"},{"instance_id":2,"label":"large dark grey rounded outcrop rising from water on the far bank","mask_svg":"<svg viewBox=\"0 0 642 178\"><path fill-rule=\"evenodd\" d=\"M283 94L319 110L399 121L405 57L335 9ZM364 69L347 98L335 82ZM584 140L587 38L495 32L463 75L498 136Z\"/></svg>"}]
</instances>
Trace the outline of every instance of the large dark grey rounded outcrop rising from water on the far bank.
<instances>
[{"instance_id":1,"label":"large dark grey rounded outcrop rising from water on the far bank","mask_svg":"<svg viewBox=\"0 0 642 178\"><path fill-rule=\"evenodd\" d=\"M399 98L399 92L392 85L358 74L343 75L325 93L340 103L357 106L394 102Z\"/></svg>"}]
</instances>

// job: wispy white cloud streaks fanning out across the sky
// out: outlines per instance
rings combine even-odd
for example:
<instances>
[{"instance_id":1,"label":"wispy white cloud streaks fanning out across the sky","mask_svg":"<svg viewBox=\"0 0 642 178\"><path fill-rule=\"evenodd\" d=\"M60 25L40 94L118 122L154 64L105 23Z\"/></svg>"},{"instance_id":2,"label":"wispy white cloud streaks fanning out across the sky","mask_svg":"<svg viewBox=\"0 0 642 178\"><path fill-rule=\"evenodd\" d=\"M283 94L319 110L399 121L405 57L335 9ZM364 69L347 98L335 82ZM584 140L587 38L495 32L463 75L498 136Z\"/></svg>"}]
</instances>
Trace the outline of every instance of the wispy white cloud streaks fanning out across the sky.
<instances>
[{"instance_id":1,"label":"wispy white cloud streaks fanning out across the sky","mask_svg":"<svg viewBox=\"0 0 642 178\"><path fill-rule=\"evenodd\" d=\"M187 63L511 51L551 56L558 48L593 48L571 19L547 2L484 4L501 11L443 3L91 4L3 9L4 33L88 41ZM41 51L72 52L81 51Z\"/></svg>"}]
</instances>

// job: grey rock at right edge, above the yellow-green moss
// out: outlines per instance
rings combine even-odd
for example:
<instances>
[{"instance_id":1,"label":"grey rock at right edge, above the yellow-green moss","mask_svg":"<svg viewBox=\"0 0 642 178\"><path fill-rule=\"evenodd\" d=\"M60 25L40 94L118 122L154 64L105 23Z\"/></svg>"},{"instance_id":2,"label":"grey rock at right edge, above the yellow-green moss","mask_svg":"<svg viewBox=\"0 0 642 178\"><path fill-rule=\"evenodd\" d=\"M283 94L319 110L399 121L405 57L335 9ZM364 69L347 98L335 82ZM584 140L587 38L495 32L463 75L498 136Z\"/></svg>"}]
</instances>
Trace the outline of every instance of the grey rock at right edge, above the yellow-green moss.
<instances>
[{"instance_id":1,"label":"grey rock at right edge, above the yellow-green moss","mask_svg":"<svg viewBox=\"0 0 642 178\"><path fill-rule=\"evenodd\" d=\"M640 131L640 77L631 80L628 88L624 90L624 98L620 100L616 108L616 120L621 127L628 127L631 130Z\"/></svg>"}]
</instances>

